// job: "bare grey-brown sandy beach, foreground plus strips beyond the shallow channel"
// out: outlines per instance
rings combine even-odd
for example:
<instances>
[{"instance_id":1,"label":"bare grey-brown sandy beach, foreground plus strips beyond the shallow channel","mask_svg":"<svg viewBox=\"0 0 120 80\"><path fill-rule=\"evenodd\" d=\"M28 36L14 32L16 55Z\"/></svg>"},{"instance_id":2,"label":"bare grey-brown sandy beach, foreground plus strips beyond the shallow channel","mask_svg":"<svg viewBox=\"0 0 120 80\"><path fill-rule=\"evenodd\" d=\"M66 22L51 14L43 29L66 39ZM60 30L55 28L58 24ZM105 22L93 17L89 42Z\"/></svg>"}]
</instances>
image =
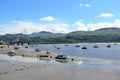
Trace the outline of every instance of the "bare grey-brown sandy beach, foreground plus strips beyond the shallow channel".
<instances>
[{"instance_id":1,"label":"bare grey-brown sandy beach, foreground plus strips beyond the shallow channel","mask_svg":"<svg viewBox=\"0 0 120 80\"><path fill-rule=\"evenodd\" d=\"M6 54L13 47L0 50ZM37 54L44 54L46 51L36 52L34 50L15 50L17 56L34 57ZM80 58L83 60L83 58ZM119 61L103 59L84 59L104 63L119 64ZM120 68L75 66L48 63L32 63L0 60L0 80L118 80L120 79Z\"/></svg>"}]
</instances>

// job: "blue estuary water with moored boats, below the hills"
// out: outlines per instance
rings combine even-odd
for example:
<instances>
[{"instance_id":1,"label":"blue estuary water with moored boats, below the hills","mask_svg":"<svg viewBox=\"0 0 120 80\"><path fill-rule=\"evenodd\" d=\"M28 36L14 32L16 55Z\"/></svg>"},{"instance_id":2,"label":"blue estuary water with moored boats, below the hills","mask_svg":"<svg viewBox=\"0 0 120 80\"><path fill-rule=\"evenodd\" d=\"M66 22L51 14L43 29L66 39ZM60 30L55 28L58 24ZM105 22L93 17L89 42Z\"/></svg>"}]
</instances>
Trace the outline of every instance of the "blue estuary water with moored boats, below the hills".
<instances>
[{"instance_id":1,"label":"blue estuary water with moored boats, below the hills","mask_svg":"<svg viewBox=\"0 0 120 80\"><path fill-rule=\"evenodd\" d=\"M97 45L98 48L94 48L95 45ZM108 45L110 45L110 47L107 47ZM87 49L82 49L83 47ZM30 48L38 48L40 50L69 56L120 60L119 43L37 44L31 45Z\"/></svg>"}]
</instances>

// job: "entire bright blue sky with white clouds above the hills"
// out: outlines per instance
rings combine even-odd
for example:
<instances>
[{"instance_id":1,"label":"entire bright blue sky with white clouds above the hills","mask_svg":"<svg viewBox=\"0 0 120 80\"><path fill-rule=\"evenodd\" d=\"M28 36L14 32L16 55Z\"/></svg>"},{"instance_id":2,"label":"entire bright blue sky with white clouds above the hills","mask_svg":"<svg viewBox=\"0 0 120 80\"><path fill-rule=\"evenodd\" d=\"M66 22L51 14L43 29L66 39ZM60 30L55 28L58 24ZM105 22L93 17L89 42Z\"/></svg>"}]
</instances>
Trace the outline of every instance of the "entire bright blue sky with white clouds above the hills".
<instances>
[{"instance_id":1,"label":"entire bright blue sky with white clouds above the hills","mask_svg":"<svg viewBox=\"0 0 120 80\"><path fill-rule=\"evenodd\" d=\"M0 35L120 28L120 0L0 0Z\"/></svg>"}]
</instances>

